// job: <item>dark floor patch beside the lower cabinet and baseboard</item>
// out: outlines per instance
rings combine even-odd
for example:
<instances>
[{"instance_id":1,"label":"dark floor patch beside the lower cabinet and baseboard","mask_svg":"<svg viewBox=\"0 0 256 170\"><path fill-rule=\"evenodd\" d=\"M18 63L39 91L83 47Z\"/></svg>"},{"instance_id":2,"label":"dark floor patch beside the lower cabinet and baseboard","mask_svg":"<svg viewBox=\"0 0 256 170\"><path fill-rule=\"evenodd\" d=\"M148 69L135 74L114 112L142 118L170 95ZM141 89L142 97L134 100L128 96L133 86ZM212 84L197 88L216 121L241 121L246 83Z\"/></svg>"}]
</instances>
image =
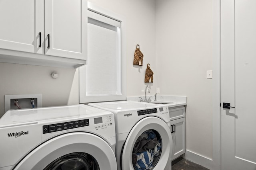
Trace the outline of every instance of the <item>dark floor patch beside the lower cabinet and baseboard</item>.
<instances>
[{"instance_id":1,"label":"dark floor patch beside the lower cabinet and baseboard","mask_svg":"<svg viewBox=\"0 0 256 170\"><path fill-rule=\"evenodd\" d=\"M172 170L209 170L199 164L195 164L185 158L177 158L172 161Z\"/></svg>"}]
</instances>

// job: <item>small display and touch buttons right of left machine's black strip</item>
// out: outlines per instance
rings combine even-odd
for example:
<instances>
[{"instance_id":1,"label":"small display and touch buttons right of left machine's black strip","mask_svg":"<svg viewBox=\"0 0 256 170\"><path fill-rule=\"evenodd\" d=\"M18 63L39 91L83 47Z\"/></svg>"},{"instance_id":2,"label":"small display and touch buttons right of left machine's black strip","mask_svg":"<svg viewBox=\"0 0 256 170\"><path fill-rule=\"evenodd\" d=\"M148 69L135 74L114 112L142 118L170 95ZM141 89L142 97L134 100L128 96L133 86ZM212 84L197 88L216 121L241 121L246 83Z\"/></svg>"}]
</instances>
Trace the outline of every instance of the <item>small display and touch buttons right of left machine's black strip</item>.
<instances>
[{"instance_id":1,"label":"small display and touch buttons right of left machine's black strip","mask_svg":"<svg viewBox=\"0 0 256 170\"><path fill-rule=\"evenodd\" d=\"M94 118L94 129L104 129L107 128L108 126L113 125L113 117L112 115L106 115L102 117L95 117Z\"/></svg>"}]
</instances>

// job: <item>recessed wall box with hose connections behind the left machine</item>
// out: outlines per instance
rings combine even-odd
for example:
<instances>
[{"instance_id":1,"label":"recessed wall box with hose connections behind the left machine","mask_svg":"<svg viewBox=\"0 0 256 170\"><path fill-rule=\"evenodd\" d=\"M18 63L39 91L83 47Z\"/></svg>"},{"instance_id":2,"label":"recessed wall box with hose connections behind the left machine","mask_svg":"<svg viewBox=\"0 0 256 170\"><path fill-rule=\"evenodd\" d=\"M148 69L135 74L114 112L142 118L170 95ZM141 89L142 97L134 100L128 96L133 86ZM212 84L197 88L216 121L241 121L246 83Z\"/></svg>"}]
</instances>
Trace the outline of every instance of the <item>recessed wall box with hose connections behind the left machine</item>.
<instances>
[{"instance_id":1,"label":"recessed wall box with hose connections behind the left machine","mask_svg":"<svg viewBox=\"0 0 256 170\"><path fill-rule=\"evenodd\" d=\"M10 109L18 109L15 106L14 101L18 101L18 105L24 108L32 108L31 100L34 99L34 107L42 107L42 95L41 94L24 94L24 95L4 95L5 100L5 112Z\"/></svg>"}]
</instances>

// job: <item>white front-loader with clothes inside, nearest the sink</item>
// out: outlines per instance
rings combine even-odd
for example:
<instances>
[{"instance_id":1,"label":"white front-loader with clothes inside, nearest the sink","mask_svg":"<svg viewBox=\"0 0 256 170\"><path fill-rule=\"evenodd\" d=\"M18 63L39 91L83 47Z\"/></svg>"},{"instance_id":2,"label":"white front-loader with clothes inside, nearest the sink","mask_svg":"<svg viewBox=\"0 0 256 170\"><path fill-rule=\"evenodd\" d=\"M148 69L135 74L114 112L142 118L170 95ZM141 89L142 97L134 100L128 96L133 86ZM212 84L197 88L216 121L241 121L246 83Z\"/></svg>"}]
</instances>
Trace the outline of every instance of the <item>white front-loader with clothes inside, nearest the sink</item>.
<instances>
[{"instance_id":1,"label":"white front-loader with clothes inside, nearest the sink","mask_svg":"<svg viewBox=\"0 0 256 170\"><path fill-rule=\"evenodd\" d=\"M172 136L167 106L133 101L88 105L114 113L118 170L171 170Z\"/></svg>"}]
</instances>

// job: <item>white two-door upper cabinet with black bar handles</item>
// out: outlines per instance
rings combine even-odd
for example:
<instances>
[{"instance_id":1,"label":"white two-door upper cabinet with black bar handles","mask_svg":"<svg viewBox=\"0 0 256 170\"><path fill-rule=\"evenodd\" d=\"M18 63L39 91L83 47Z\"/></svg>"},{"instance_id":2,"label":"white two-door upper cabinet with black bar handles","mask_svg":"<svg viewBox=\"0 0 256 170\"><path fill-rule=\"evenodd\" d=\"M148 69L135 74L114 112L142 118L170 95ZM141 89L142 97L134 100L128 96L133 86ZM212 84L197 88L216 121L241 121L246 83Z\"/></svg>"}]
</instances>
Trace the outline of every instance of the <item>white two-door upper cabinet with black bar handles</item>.
<instances>
[{"instance_id":1,"label":"white two-door upper cabinet with black bar handles","mask_svg":"<svg viewBox=\"0 0 256 170\"><path fill-rule=\"evenodd\" d=\"M0 0L0 23L0 62L86 64L87 0Z\"/></svg>"}]
</instances>

